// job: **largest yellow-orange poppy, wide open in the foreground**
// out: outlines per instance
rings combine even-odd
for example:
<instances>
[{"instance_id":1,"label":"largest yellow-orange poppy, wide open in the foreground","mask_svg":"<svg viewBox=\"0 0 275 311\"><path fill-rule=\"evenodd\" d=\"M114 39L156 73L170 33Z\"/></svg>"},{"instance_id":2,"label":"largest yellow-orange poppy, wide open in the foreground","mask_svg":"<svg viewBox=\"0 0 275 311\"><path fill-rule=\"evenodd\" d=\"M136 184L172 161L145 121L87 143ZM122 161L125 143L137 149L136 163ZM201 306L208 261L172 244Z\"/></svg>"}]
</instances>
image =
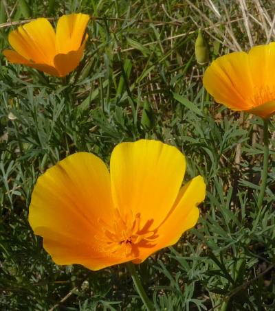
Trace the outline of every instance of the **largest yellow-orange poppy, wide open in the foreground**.
<instances>
[{"instance_id":1,"label":"largest yellow-orange poppy, wide open in the foreground","mask_svg":"<svg viewBox=\"0 0 275 311\"><path fill-rule=\"evenodd\" d=\"M197 176L179 189L185 168L160 141L120 143L110 173L94 154L72 154L38 178L30 225L56 264L139 264L197 222L206 185Z\"/></svg>"}]
</instances>

